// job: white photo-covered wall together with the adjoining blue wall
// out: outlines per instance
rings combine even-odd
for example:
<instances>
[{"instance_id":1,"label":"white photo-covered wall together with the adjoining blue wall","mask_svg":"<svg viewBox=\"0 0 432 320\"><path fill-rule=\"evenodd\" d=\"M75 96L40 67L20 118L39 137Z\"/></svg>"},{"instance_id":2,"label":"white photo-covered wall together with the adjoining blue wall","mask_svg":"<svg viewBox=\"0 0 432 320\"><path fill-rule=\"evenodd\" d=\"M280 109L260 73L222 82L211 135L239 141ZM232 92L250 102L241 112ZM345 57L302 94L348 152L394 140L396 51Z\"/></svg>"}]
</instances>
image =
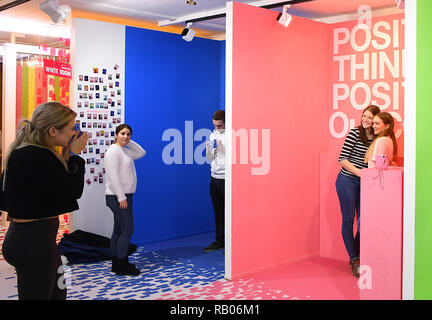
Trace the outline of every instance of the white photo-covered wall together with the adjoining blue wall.
<instances>
[{"instance_id":1,"label":"white photo-covered wall together with the adjoining blue wall","mask_svg":"<svg viewBox=\"0 0 432 320\"><path fill-rule=\"evenodd\" d=\"M144 244L213 231L205 141L224 108L220 41L74 19L74 108L92 137L75 230L110 237L104 154L120 123L145 150L135 161L132 242ZM202 247L208 243L201 244Z\"/></svg>"}]
</instances>

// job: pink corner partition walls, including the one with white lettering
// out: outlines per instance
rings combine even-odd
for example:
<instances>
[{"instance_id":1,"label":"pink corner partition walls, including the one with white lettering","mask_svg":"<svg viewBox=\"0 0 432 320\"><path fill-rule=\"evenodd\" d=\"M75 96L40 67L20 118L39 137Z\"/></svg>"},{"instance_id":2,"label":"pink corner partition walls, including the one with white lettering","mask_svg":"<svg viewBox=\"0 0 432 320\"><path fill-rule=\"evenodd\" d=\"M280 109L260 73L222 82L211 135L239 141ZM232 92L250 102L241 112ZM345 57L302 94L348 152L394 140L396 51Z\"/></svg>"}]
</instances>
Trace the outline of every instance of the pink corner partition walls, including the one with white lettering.
<instances>
[{"instance_id":1,"label":"pink corner partition walls, including the one with white lettering","mask_svg":"<svg viewBox=\"0 0 432 320\"><path fill-rule=\"evenodd\" d=\"M288 27L277 15L227 7L230 279L318 255L348 263L338 157L369 104L396 120L403 166L404 15Z\"/></svg>"}]
</instances>

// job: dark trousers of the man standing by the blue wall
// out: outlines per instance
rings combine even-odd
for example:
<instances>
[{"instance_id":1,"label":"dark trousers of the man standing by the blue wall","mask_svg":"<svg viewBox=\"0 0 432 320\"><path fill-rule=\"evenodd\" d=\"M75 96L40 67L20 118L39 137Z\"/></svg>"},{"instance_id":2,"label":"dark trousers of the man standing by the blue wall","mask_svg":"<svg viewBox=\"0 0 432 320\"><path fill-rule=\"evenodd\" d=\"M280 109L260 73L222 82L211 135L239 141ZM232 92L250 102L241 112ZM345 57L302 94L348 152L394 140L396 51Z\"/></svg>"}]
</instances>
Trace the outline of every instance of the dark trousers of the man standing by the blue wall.
<instances>
[{"instance_id":1,"label":"dark trousers of the man standing by the blue wall","mask_svg":"<svg viewBox=\"0 0 432 320\"><path fill-rule=\"evenodd\" d=\"M216 242L225 244L225 179L211 178L210 196L215 213Z\"/></svg>"}]
</instances>

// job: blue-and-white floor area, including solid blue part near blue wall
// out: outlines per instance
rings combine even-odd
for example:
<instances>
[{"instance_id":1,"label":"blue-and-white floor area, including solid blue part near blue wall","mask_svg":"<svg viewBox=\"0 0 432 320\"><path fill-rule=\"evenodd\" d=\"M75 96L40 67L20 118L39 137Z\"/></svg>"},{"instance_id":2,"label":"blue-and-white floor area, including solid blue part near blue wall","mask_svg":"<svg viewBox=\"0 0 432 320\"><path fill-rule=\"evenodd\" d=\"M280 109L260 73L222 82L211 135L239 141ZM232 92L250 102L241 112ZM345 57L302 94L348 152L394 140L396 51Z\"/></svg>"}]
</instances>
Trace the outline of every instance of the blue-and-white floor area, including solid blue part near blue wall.
<instances>
[{"instance_id":1,"label":"blue-and-white floor area, including solid blue part near blue wall","mask_svg":"<svg viewBox=\"0 0 432 320\"><path fill-rule=\"evenodd\" d=\"M0 229L0 247L6 229ZM222 280L223 251L205 253L203 246L191 246L196 240L207 244L210 234L189 237L178 246L169 242L139 246L129 257L141 270L138 277L121 277L110 272L111 262L65 266L65 283L70 300L180 299L191 288L204 287ZM200 239L199 239L200 238ZM205 241L205 242L204 242ZM168 246L167 246L168 245ZM157 250L152 250L157 248ZM0 299L17 299L16 274L1 257ZM178 297L179 296L179 297ZM203 299L203 298L201 298Z\"/></svg>"}]
</instances>

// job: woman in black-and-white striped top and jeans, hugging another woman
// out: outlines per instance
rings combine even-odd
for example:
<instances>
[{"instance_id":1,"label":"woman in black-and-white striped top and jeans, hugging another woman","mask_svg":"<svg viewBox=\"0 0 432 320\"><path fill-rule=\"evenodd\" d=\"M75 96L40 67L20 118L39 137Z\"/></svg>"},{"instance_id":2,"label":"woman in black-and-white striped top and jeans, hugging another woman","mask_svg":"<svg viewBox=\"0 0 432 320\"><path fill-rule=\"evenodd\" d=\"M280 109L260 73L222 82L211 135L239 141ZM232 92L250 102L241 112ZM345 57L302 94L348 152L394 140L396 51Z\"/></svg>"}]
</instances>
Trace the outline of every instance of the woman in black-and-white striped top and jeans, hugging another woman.
<instances>
[{"instance_id":1,"label":"woman in black-and-white striped top and jeans, hugging another woman","mask_svg":"<svg viewBox=\"0 0 432 320\"><path fill-rule=\"evenodd\" d=\"M370 105L363 110L361 124L352 128L345 139L339 156L342 166L336 180L336 191L342 212L342 238L350 257L352 272L359 277L360 266L360 171L367 168L365 154L375 138L373 118L380 112L379 107ZM357 233L354 237L353 226L357 211Z\"/></svg>"}]
</instances>

